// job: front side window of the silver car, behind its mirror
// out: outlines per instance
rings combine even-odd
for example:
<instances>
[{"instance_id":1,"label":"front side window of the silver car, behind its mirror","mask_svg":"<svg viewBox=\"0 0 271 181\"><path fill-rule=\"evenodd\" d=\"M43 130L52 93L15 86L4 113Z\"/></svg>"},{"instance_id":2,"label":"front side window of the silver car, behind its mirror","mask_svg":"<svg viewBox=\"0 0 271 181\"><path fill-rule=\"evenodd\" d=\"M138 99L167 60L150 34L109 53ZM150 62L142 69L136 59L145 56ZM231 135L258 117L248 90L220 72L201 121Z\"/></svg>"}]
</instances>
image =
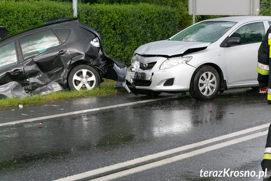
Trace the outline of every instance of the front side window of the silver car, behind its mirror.
<instances>
[{"instance_id":1,"label":"front side window of the silver car, behind its mirror","mask_svg":"<svg viewBox=\"0 0 271 181\"><path fill-rule=\"evenodd\" d=\"M241 44L263 41L265 30L263 22L250 23L238 28L231 37L241 38Z\"/></svg>"}]
</instances>

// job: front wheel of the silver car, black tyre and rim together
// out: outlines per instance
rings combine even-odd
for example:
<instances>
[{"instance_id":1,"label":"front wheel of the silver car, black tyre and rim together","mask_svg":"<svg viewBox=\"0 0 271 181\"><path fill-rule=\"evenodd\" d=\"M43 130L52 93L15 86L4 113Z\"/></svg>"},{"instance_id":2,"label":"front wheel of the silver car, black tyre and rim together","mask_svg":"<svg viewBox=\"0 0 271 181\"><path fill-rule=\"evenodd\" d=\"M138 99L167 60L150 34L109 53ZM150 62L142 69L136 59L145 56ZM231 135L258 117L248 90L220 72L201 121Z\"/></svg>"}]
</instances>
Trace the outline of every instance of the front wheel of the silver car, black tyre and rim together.
<instances>
[{"instance_id":1,"label":"front wheel of the silver car, black tyre and rim together","mask_svg":"<svg viewBox=\"0 0 271 181\"><path fill-rule=\"evenodd\" d=\"M190 82L189 93L196 100L212 100L220 88L218 72L209 65L198 68Z\"/></svg>"}]
</instances>

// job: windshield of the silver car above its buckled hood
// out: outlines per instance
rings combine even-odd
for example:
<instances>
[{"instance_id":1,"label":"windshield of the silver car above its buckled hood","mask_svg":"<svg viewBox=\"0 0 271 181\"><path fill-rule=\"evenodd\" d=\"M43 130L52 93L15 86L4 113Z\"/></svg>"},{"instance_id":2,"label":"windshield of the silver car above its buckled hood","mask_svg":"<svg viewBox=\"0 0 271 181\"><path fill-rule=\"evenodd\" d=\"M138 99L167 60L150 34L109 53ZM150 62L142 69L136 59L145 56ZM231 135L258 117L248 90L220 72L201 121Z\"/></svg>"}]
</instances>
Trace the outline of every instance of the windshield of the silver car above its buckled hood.
<instances>
[{"instance_id":1,"label":"windshield of the silver car above its buckled hood","mask_svg":"<svg viewBox=\"0 0 271 181\"><path fill-rule=\"evenodd\" d=\"M195 24L170 40L187 42L215 42L236 22L231 21L204 21Z\"/></svg>"}]
</instances>

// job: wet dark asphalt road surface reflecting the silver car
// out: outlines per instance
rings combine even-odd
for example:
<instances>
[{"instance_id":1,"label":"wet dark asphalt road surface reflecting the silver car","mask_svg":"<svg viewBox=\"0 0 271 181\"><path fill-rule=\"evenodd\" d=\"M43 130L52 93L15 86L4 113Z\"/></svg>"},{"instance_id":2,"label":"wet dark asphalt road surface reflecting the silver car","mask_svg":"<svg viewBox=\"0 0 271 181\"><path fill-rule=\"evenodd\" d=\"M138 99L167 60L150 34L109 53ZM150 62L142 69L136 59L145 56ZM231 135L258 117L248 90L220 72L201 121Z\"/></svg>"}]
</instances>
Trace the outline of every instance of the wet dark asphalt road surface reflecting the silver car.
<instances>
[{"instance_id":1,"label":"wet dark asphalt road surface reflecting the silver car","mask_svg":"<svg viewBox=\"0 0 271 181\"><path fill-rule=\"evenodd\" d=\"M161 100L109 107L86 113L29 121L32 118L122 105L147 100L146 96L118 93L0 111L0 180L56 180L98 168L149 156L162 151L217 138L229 133L270 123L267 95L252 89L226 91L212 101L189 96L162 94ZM42 127L42 128L41 128ZM113 180L271 180L269 177L200 177L203 171L261 170L266 134L240 143L195 154L179 161L148 168L164 161L225 141L260 133L267 127L187 150L103 172L81 180L127 173ZM264 133L264 132L263 132ZM145 168L146 167L146 168ZM105 178L101 178L105 180Z\"/></svg>"}]
</instances>

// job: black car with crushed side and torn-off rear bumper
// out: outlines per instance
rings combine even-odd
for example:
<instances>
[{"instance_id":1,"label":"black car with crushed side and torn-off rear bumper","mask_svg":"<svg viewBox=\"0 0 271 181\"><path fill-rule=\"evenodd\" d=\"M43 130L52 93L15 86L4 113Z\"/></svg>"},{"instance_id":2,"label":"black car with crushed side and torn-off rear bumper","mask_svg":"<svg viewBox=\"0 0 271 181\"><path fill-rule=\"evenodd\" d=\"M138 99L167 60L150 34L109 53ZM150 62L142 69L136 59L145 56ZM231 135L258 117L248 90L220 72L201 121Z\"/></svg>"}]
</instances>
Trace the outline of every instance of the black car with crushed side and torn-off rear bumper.
<instances>
[{"instance_id":1,"label":"black car with crushed side and torn-off rear bumper","mask_svg":"<svg viewBox=\"0 0 271 181\"><path fill-rule=\"evenodd\" d=\"M0 97L89 90L98 87L102 77L122 88L126 70L105 54L100 34L78 19L52 19L0 39Z\"/></svg>"}]
</instances>

